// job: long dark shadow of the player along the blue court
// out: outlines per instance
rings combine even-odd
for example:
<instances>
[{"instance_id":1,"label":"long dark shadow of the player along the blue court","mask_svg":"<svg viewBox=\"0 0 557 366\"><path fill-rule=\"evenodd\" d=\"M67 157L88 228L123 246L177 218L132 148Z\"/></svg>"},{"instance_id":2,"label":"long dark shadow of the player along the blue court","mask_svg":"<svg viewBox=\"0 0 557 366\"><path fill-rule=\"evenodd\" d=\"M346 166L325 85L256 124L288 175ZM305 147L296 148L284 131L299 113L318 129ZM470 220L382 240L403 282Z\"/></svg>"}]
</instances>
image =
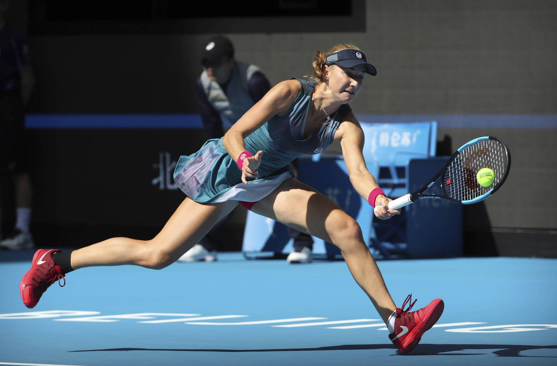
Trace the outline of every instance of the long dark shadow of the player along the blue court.
<instances>
[{"instance_id":1,"label":"long dark shadow of the player along the blue court","mask_svg":"<svg viewBox=\"0 0 557 366\"><path fill-rule=\"evenodd\" d=\"M85 349L69 352L100 352L100 351L168 351L168 352L301 352L301 351L338 351L338 350L373 350L393 349L392 344L345 344L328 347L315 348L270 348L270 349L178 349L178 348L107 348L107 349ZM499 349L493 352L498 357L548 357L556 356L523 356L519 353L533 349L557 349L557 345L519 345L519 344L419 344L409 356L423 355L481 355L486 353L460 353L465 350L488 350ZM394 349L393 349L394 351Z\"/></svg>"}]
</instances>

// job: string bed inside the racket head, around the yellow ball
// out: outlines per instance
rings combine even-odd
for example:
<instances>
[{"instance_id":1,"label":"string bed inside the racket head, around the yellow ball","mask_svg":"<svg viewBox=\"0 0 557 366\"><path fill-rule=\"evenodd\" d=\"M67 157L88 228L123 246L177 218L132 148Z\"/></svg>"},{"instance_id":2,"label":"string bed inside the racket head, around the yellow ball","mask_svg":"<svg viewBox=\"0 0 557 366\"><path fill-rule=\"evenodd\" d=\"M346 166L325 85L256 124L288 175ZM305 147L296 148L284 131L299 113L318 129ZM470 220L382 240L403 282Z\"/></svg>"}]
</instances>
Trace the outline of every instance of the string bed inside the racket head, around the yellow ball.
<instances>
[{"instance_id":1,"label":"string bed inside the racket head, around the yellow ball","mask_svg":"<svg viewBox=\"0 0 557 366\"><path fill-rule=\"evenodd\" d=\"M448 165L442 187L448 197L467 201L482 196L500 182L507 167L504 145L498 140L478 141L460 152ZM494 171L494 182L488 187L478 184L478 170L490 168Z\"/></svg>"}]
</instances>

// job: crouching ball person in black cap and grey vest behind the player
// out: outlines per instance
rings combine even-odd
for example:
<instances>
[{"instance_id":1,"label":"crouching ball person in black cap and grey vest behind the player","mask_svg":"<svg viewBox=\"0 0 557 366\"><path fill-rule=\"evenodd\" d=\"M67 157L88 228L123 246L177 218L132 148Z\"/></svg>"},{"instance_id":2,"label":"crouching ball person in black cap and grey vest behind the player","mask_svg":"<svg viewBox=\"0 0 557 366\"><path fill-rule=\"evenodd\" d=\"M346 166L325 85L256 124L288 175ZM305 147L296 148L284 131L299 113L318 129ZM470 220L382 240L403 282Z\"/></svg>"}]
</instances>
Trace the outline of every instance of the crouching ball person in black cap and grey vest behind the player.
<instances>
[{"instance_id":1,"label":"crouching ball person in black cap and grey vest behind the player","mask_svg":"<svg viewBox=\"0 0 557 366\"><path fill-rule=\"evenodd\" d=\"M211 37L201 56L203 72L196 82L196 97L203 129L208 139L224 136L222 118L239 120L267 92L271 85L259 67L234 59L232 42L222 35ZM230 215L224 217L199 243L178 259L181 262L214 261L222 228ZM294 250L287 261L311 262L313 240L310 235L288 228L294 238Z\"/></svg>"}]
</instances>

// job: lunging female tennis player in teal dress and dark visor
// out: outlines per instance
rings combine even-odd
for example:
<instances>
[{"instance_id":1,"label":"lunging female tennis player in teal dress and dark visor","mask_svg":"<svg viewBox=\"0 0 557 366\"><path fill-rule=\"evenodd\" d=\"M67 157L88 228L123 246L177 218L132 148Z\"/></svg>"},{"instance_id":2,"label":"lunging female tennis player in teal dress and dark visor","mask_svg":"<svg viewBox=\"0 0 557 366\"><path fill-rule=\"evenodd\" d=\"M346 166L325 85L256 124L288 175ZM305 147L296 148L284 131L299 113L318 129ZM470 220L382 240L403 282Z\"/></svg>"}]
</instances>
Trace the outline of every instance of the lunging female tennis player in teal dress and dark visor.
<instances>
[{"instance_id":1,"label":"lunging female tennis player in teal dress and dark visor","mask_svg":"<svg viewBox=\"0 0 557 366\"><path fill-rule=\"evenodd\" d=\"M378 187L365 166L364 133L349 103L366 74L376 75L363 52L336 45L317 52L314 75L273 87L221 139L208 140L189 156L180 157L174 180L186 198L152 240L111 238L71 252L38 250L23 276L23 303L33 308L53 282L72 270L91 266L137 265L163 269L194 246L238 203L338 246L355 281L369 296L387 324L389 338L400 353L412 350L424 331L443 311L443 301L408 312L408 296L395 306L360 227L337 204L294 178L289 163L302 154L315 154L340 141L350 182L388 219L399 210ZM64 279L65 281L65 279ZM60 284L61 285L61 284ZM62 285L61 285L62 286Z\"/></svg>"}]
</instances>

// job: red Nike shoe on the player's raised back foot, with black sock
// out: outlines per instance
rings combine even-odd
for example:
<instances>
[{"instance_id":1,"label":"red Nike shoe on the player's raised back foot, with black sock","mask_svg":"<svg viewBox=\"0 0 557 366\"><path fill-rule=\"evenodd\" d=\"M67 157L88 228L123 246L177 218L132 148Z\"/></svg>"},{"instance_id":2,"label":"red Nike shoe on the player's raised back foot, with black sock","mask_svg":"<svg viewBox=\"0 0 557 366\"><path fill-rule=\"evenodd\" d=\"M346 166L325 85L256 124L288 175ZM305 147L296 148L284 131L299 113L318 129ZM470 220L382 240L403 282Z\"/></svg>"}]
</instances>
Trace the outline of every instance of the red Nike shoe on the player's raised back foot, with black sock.
<instances>
[{"instance_id":1,"label":"red Nike shoe on the player's raised back foot, with black sock","mask_svg":"<svg viewBox=\"0 0 557 366\"><path fill-rule=\"evenodd\" d=\"M19 282L19 293L21 300L27 308L34 308L38 300L41 299L43 292L50 287L56 280L61 287L66 285L60 283L64 278L62 269L54 264L52 253L59 252L59 249L39 249L33 256L31 269L27 271Z\"/></svg>"}]
</instances>

